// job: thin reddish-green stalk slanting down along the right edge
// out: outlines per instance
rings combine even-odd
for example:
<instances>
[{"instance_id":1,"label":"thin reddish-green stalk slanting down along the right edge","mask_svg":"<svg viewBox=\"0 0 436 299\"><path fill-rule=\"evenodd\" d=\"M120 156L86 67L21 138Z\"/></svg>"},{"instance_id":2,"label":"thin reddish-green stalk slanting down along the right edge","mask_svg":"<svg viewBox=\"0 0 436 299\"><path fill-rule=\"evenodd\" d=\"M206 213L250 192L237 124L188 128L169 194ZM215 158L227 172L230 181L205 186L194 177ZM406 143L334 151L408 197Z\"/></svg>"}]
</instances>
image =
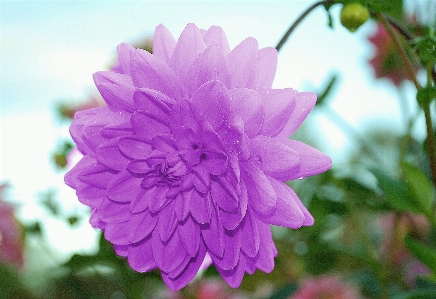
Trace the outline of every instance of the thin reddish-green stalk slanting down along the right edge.
<instances>
[{"instance_id":1,"label":"thin reddish-green stalk slanting down along the right edge","mask_svg":"<svg viewBox=\"0 0 436 299\"><path fill-rule=\"evenodd\" d=\"M384 14L377 13L377 17L388 31L389 36L392 38L392 41L394 42L394 45L397 48L400 57L403 60L404 65L406 66L406 70L410 78L412 79L413 84L415 84L416 90L418 91L421 88L421 85L418 83L418 80L416 79L415 72L413 71L412 63L410 62L410 59L408 58L406 54L406 50L402 46L398 35L392 29L392 26L390 25L389 21L386 19ZM431 82L431 72L430 72L429 82ZM425 115L425 124L427 127L427 142L428 142L428 155L430 159L430 170L431 170L433 185L436 187L436 151L435 151L434 132L433 132L433 125L431 120L429 104L424 105L424 115Z\"/></svg>"}]
</instances>

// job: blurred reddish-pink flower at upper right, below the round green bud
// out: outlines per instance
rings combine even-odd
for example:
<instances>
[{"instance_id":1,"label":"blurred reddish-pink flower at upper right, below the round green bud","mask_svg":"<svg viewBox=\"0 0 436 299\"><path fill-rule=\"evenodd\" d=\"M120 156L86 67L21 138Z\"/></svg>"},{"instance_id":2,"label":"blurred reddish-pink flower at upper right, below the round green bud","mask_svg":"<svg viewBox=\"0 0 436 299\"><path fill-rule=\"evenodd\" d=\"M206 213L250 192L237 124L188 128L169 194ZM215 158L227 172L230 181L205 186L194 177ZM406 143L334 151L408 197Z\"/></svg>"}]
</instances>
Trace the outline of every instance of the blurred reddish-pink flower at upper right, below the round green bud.
<instances>
[{"instance_id":1,"label":"blurred reddish-pink flower at upper right, below the round green bud","mask_svg":"<svg viewBox=\"0 0 436 299\"><path fill-rule=\"evenodd\" d=\"M368 40L375 46L375 54L369 64L374 69L376 78L387 78L395 86L411 79L394 42L381 24L377 25L377 30ZM415 72L417 70L416 68Z\"/></svg>"}]
</instances>

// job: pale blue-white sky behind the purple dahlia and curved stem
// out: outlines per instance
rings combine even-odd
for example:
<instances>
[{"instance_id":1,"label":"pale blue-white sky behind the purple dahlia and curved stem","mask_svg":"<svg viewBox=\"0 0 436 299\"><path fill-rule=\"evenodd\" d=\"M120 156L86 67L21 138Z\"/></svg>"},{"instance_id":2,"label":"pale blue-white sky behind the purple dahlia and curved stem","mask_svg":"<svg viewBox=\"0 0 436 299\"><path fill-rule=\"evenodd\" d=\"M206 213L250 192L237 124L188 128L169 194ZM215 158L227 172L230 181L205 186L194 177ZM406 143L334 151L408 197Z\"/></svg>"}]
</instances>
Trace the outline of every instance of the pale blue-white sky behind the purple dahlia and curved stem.
<instances>
[{"instance_id":1,"label":"pale blue-white sky behind the purple dahlia and curved stem","mask_svg":"<svg viewBox=\"0 0 436 299\"><path fill-rule=\"evenodd\" d=\"M57 138L68 136L67 128L53 121L53 103L83 101L96 93L92 74L111 64L119 43L137 43L161 23L177 38L193 22L204 29L223 27L232 48L248 36L260 47L275 46L313 2L0 0L0 181L9 180L13 199L26 202L24 217L38 213L36 194L48 187L60 190L66 206L78 208L74 192L63 185L63 174L48 162ZM350 34L337 23L339 8L332 13L335 29L327 28L320 7L291 36L279 53L274 86L309 91L337 71L340 86L333 109L356 127L384 118L401 128L395 89L376 81L367 65L373 49L365 39L374 24ZM410 94L406 89L406 96ZM335 166L352 144L344 143L342 133L325 118L316 123L320 127L313 131ZM56 224L53 239L65 231ZM54 246L74 250L70 243L62 244Z\"/></svg>"}]
</instances>

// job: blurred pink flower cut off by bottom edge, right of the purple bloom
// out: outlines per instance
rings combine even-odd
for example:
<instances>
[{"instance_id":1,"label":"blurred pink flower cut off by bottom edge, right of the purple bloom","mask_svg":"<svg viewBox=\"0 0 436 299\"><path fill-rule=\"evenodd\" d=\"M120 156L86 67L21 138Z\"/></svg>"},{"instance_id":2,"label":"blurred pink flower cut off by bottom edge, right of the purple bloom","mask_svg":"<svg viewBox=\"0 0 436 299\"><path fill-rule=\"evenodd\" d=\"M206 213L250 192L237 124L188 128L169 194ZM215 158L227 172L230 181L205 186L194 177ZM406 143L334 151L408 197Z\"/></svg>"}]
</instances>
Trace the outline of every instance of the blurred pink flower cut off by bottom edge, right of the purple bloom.
<instances>
[{"instance_id":1,"label":"blurred pink flower cut off by bottom edge, right of the purple bloom","mask_svg":"<svg viewBox=\"0 0 436 299\"><path fill-rule=\"evenodd\" d=\"M358 299L356 288L334 275L303 280L300 289L289 299Z\"/></svg>"}]
</instances>

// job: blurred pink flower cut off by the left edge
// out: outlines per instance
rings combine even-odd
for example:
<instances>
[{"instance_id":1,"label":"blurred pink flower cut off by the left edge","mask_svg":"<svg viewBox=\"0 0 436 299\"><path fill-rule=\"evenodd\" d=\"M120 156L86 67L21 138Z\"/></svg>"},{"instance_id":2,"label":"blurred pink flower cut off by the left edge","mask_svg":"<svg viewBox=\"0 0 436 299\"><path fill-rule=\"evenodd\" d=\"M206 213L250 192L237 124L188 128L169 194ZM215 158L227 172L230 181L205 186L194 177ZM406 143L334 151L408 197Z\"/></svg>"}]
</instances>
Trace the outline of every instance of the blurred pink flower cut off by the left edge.
<instances>
[{"instance_id":1,"label":"blurred pink flower cut off by the left edge","mask_svg":"<svg viewBox=\"0 0 436 299\"><path fill-rule=\"evenodd\" d=\"M14 206L3 201L7 184L0 184L0 262L23 267L24 234L14 216Z\"/></svg>"}]
</instances>

